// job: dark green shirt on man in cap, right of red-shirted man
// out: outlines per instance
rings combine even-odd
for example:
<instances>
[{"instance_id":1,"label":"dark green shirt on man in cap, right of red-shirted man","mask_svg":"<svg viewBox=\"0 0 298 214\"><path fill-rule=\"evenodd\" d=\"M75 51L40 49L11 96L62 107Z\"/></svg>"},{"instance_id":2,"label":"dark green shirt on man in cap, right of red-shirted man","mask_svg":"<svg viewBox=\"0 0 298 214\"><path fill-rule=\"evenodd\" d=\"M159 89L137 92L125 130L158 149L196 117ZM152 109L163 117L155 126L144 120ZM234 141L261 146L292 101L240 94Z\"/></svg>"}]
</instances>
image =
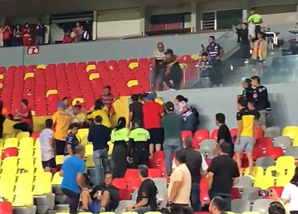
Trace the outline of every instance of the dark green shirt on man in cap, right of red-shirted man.
<instances>
[{"instance_id":1,"label":"dark green shirt on man in cap, right of red-shirted man","mask_svg":"<svg viewBox=\"0 0 298 214\"><path fill-rule=\"evenodd\" d=\"M162 119L161 125L164 129L164 139L180 139L182 130L182 115L168 112Z\"/></svg>"}]
</instances>

